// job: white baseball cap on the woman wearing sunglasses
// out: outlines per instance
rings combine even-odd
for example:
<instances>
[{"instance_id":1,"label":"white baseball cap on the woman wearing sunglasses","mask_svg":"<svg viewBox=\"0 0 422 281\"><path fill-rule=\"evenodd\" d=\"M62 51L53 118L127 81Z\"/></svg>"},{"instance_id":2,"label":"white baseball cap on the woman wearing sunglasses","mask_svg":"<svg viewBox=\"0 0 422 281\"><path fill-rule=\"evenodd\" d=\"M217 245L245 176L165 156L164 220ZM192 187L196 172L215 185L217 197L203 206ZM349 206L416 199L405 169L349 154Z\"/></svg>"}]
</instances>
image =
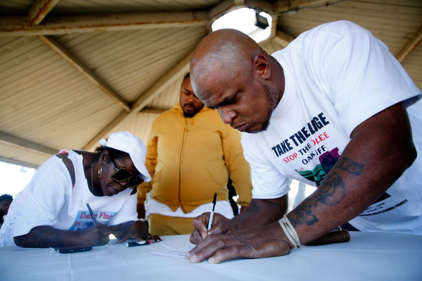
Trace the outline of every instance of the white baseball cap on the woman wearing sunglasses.
<instances>
[{"instance_id":1,"label":"white baseball cap on the woman wearing sunglasses","mask_svg":"<svg viewBox=\"0 0 422 281\"><path fill-rule=\"evenodd\" d=\"M108 139L101 139L100 144L129 153L133 165L139 171L139 177L144 182L151 181L151 176L145 166L146 147L140 138L130 132L121 131L111 134Z\"/></svg>"}]
</instances>

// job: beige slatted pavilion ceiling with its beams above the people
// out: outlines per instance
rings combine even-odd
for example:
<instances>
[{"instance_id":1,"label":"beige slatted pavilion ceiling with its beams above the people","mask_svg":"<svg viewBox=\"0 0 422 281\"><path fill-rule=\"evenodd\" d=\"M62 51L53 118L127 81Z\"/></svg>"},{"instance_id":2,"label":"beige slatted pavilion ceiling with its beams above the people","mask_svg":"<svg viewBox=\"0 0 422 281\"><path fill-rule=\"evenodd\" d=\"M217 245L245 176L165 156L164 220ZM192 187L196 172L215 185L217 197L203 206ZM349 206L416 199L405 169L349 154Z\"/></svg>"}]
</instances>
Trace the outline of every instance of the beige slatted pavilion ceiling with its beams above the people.
<instances>
[{"instance_id":1,"label":"beige slatted pavilion ceiling with its beams above the people","mask_svg":"<svg viewBox=\"0 0 422 281\"><path fill-rule=\"evenodd\" d=\"M261 43L268 53L349 20L422 88L420 0L0 0L0 160L38 166L121 130L146 142L154 118L179 101L211 21L245 6L276 16L277 35Z\"/></svg>"}]
</instances>

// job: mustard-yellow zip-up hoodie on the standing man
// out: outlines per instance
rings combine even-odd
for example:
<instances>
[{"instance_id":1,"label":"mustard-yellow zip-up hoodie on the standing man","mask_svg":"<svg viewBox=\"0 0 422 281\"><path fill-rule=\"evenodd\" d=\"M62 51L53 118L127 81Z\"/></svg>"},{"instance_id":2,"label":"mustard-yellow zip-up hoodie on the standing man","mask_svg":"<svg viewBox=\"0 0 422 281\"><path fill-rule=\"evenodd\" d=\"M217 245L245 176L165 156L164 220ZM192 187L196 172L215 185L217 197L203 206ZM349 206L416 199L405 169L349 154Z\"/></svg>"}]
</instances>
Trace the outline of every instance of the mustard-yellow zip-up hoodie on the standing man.
<instances>
[{"instance_id":1,"label":"mustard-yellow zip-up hoodie on the standing man","mask_svg":"<svg viewBox=\"0 0 422 281\"><path fill-rule=\"evenodd\" d=\"M237 203L252 199L249 163L243 157L238 131L223 123L218 112L203 107L185 118L178 102L153 122L147 142L146 167L151 182L138 187L138 203L146 191L173 211L185 213L217 200L228 201L227 180L239 195Z\"/></svg>"}]
</instances>

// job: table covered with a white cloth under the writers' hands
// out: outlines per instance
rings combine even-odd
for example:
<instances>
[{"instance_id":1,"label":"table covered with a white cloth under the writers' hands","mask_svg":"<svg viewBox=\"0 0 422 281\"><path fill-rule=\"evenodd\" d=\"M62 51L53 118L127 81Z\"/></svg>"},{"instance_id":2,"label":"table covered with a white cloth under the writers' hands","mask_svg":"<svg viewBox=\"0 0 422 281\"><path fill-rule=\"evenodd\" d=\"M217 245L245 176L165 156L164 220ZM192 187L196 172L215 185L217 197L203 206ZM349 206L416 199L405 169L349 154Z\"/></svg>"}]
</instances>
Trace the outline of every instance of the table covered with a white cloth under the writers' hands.
<instances>
[{"instance_id":1,"label":"table covered with a white cloth under the writers' hands","mask_svg":"<svg viewBox=\"0 0 422 281\"><path fill-rule=\"evenodd\" d=\"M422 236L350 232L348 243L303 246L287 256L221 264L152 252L193 247L189 235L162 236L148 246L110 244L90 252L0 248L0 280L422 280Z\"/></svg>"}]
</instances>

